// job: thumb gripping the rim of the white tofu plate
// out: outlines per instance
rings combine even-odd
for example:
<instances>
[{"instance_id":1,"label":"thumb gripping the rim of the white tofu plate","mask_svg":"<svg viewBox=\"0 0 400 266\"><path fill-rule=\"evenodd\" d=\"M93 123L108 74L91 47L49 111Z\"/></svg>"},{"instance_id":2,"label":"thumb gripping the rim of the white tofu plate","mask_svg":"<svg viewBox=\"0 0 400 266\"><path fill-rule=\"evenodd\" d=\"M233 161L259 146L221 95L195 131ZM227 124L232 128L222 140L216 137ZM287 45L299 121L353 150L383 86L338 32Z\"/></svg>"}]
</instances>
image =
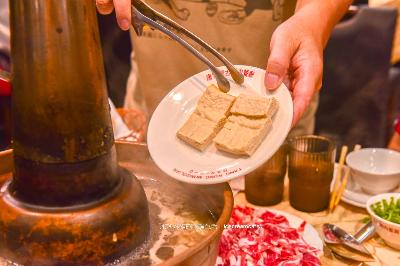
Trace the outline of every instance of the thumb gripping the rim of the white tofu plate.
<instances>
[{"instance_id":1,"label":"thumb gripping the rim of the white tofu plate","mask_svg":"<svg viewBox=\"0 0 400 266\"><path fill-rule=\"evenodd\" d=\"M264 85L276 89L284 80L294 52L286 42L271 42L271 54L265 73Z\"/></svg>"}]
</instances>

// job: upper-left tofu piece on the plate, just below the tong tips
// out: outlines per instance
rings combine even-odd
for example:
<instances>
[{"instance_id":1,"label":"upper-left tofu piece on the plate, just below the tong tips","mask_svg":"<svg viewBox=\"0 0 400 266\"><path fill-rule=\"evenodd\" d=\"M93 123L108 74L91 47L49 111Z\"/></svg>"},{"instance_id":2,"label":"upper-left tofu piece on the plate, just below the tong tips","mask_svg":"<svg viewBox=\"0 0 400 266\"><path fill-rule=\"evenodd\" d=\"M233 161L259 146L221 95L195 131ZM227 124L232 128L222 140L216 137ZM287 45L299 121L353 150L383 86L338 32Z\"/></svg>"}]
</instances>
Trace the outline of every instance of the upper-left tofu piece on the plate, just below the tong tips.
<instances>
[{"instance_id":1,"label":"upper-left tofu piece on the plate, just below the tong tips","mask_svg":"<svg viewBox=\"0 0 400 266\"><path fill-rule=\"evenodd\" d=\"M230 115L230 109L235 100L235 96L224 93L214 85L210 85L207 87L206 91L204 91L197 103L198 105L202 105L204 107L210 107L214 111L223 113L226 117L228 117L228 115Z\"/></svg>"}]
</instances>

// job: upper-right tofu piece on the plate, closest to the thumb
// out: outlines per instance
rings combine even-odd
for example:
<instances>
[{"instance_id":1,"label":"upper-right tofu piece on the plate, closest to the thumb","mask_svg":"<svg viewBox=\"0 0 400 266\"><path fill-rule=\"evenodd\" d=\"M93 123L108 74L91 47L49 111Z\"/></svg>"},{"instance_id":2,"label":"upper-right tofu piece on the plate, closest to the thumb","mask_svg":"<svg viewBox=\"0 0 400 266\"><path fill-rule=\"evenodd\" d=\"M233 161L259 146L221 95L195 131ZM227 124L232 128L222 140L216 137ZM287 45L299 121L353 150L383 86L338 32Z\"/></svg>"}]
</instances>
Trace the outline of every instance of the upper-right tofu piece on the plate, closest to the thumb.
<instances>
[{"instance_id":1,"label":"upper-right tofu piece on the plate, closest to the thumb","mask_svg":"<svg viewBox=\"0 0 400 266\"><path fill-rule=\"evenodd\" d=\"M278 109L278 106L279 102L274 97L266 98L240 94L230 109L230 112L236 115L272 117Z\"/></svg>"}]
</instances>

